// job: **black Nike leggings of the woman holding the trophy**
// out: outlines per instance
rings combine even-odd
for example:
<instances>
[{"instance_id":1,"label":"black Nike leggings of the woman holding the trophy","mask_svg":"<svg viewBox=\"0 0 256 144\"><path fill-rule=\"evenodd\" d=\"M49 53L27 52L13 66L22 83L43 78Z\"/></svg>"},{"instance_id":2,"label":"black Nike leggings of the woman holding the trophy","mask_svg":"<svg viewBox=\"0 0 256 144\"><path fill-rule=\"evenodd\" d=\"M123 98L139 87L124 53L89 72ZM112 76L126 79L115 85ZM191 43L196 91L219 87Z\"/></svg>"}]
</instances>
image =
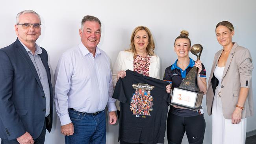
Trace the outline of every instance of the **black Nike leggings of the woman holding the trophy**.
<instances>
[{"instance_id":1,"label":"black Nike leggings of the woman holding the trophy","mask_svg":"<svg viewBox=\"0 0 256 144\"><path fill-rule=\"evenodd\" d=\"M168 144L181 144L185 131L189 144L202 144L205 131L204 114L184 117L169 111L166 128Z\"/></svg>"}]
</instances>

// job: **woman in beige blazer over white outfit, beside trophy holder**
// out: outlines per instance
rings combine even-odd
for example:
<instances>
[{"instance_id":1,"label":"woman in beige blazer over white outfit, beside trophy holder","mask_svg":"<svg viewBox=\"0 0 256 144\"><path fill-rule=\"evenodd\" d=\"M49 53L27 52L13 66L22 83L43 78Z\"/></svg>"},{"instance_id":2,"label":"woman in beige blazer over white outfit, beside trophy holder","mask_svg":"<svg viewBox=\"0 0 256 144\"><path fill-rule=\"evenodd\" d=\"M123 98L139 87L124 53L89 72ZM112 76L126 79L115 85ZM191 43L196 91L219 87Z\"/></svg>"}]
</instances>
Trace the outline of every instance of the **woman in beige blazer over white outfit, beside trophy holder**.
<instances>
[{"instance_id":1,"label":"woman in beige blazer over white outfit, beside trophy holder","mask_svg":"<svg viewBox=\"0 0 256 144\"><path fill-rule=\"evenodd\" d=\"M206 93L212 144L244 144L246 117L253 114L252 57L247 48L232 42L230 22L219 22L215 31L223 49L215 54Z\"/></svg>"}]
</instances>

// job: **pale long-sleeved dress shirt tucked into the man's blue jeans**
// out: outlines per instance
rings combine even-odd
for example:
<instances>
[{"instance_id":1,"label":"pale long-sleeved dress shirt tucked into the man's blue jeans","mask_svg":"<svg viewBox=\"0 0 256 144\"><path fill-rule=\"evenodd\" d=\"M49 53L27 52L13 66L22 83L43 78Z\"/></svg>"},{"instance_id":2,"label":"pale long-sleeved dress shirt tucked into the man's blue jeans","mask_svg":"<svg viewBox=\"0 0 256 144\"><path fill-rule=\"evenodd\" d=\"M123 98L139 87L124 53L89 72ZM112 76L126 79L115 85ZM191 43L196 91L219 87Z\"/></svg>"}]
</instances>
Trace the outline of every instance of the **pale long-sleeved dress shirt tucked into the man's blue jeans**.
<instances>
[{"instance_id":1,"label":"pale long-sleeved dress shirt tucked into the man's blue jeans","mask_svg":"<svg viewBox=\"0 0 256 144\"><path fill-rule=\"evenodd\" d=\"M61 125L69 124L68 108L95 113L108 104L116 111L109 58L96 47L95 57L82 44L63 53L55 71L56 111Z\"/></svg>"}]
</instances>

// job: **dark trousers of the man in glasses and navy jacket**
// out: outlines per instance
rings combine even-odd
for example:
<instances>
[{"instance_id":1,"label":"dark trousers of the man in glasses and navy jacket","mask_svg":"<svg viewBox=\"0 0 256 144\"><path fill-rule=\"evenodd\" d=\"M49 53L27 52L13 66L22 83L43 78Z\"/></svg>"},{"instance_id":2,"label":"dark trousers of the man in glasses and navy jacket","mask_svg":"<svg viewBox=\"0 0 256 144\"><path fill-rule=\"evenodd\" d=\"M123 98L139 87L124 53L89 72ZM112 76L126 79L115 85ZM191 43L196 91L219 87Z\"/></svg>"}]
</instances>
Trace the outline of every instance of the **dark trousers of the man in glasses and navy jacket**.
<instances>
[{"instance_id":1,"label":"dark trousers of the man in glasses and navy jacket","mask_svg":"<svg viewBox=\"0 0 256 144\"><path fill-rule=\"evenodd\" d=\"M34 144L44 144L45 143L45 132L46 132L46 125L44 124L41 134L39 135L38 138L34 139L34 141L35 141ZM7 139L2 138L1 144L19 144L19 142L17 141L17 139L7 140Z\"/></svg>"}]
</instances>

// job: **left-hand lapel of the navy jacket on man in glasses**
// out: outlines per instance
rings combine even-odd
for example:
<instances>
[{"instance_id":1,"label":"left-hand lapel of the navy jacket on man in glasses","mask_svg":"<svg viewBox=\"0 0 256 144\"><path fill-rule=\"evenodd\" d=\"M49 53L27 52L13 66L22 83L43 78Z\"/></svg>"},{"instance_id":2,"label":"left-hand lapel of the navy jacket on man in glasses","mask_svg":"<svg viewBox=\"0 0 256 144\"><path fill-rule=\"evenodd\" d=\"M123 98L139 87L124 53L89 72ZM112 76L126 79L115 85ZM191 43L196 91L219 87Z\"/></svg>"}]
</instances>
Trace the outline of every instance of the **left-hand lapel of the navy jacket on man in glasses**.
<instances>
[{"instance_id":1,"label":"left-hand lapel of the navy jacket on man in glasses","mask_svg":"<svg viewBox=\"0 0 256 144\"><path fill-rule=\"evenodd\" d=\"M37 71L35 69L35 66L32 63L32 61L28 55L28 52L25 50L24 46L20 43L18 38L15 43L17 45L18 52L23 57L23 59L25 59L25 61L27 62L28 66L30 67L30 70L32 71L32 74L35 76L35 79L37 80L37 83L39 84L40 88L43 90L43 86L41 84L41 81L40 81Z\"/></svg>"}]
</instances>

